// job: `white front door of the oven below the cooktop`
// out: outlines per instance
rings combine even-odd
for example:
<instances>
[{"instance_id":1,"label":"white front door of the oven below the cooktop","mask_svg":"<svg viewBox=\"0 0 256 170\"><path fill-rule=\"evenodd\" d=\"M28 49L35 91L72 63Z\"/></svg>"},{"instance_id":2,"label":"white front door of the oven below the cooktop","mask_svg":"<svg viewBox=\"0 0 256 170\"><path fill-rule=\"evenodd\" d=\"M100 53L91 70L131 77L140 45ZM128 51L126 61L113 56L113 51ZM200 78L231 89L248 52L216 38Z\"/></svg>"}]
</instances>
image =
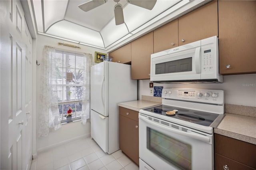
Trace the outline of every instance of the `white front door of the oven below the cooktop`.
<instances>
[{"instance_id":1,"label":"white front door of the oven below the cooktop","mask_svg":"<svg viewBox=\"0 0 256 170\"><path fill-rule=\"evenodd\" d=\"M213 169L212 134L141 113L139 125L140 159L155 170Z\"/></svg>"}]
</instances>

